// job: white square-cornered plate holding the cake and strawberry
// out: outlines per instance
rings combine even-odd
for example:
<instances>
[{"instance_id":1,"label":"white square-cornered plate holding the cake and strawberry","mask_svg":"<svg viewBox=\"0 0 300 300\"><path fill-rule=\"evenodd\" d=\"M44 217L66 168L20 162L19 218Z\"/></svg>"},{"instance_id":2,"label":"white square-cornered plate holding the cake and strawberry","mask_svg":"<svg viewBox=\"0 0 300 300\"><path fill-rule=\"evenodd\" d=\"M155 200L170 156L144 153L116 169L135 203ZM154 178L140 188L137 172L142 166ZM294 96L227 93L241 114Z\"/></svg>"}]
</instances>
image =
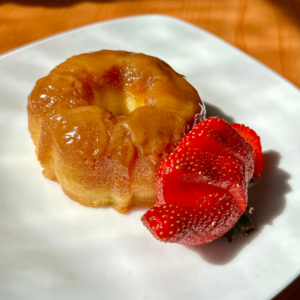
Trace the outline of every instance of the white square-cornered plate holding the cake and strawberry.
<instances>
[{"instance_id":1,"label":"white square-cornered plate holding the cake and strawberry","mask_svg":"<svg viewBox=\"0 0 300 300\"><path fill-rule=\"evenodd\" d=\"M197 88L209 114L262 139L265 165L250 192L259 230L232 244L163 244L121 215L71 201L45 179L27 130L35 82L70 56L123 49L157 56ZM300 93L211 34L164 16L80 28L0 58L1 299L270 299L300 271Z\"/></svg>"}]
</instances>

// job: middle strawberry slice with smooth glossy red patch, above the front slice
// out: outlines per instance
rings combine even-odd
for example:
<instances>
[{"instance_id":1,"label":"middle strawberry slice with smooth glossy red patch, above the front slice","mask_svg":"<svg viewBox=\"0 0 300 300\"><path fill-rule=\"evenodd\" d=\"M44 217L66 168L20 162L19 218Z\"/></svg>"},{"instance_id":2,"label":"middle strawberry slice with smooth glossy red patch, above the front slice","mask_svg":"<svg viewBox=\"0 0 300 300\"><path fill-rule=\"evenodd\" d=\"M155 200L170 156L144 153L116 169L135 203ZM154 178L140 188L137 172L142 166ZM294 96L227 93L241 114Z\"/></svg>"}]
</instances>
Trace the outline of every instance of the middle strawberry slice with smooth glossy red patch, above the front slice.
<instances>
[{"instance_id":1,"label":"middle strawberry slice with smooth glossy red patch, above the front slice","mask_svg":"<svg viewBox=\"0 0 300 300\"><path fill-rule=\"evenodd\" d=\"M241 214L247 204L244 164L198 149L177 147L158 169L156 190L157 204L193 203L215 192L236 199Z\"/></svg>"}]
</instances>

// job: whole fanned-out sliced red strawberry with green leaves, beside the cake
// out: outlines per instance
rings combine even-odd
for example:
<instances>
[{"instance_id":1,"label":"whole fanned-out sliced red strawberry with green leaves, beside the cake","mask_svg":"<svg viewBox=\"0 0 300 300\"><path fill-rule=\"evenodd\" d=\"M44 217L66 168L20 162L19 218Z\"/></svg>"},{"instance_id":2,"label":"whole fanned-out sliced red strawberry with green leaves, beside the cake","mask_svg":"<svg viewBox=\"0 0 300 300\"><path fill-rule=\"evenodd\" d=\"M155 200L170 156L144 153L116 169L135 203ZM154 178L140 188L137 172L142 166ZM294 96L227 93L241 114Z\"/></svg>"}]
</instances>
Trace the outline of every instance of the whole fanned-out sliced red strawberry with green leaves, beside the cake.
<instances>
[{"instance_id":1,"label":"whole fanned-out sliced red strawberry with green leaves, beside the cake","mask_svg":"<svg viewBox=\"0 0 300 300\"><path fill-rule=\"evenodd\" d=\"M236 130L237 129L237 130ZM157 205L142 216L160 241L201 245L238 224L254 230L245 215L247 187L262 170L260 138L244 125L208 118L188 133L160 165Z\"/></svg>"}]
</instances>

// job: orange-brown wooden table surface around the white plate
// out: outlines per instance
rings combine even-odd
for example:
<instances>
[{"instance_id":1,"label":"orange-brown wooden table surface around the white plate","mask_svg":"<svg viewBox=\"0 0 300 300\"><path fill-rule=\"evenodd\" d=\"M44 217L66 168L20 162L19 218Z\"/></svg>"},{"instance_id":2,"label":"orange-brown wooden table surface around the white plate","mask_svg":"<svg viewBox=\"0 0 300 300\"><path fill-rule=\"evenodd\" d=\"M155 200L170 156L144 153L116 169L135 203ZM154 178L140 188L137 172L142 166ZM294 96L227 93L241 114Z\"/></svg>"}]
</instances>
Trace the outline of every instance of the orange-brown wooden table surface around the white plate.
<instances>
[{"instance_id":1,"label":"orange-brown wooden table surface around the white plate","mask_svg":"<svg viewBox=\"0 0 300 300\"><path fill-rule=\"evenodd\" d=\"M3 0L0 54L85 24L140 14L191 22L300 87L300 0ZM300 278L276 300L300 299Z\"/></svg>"}]
</instances>

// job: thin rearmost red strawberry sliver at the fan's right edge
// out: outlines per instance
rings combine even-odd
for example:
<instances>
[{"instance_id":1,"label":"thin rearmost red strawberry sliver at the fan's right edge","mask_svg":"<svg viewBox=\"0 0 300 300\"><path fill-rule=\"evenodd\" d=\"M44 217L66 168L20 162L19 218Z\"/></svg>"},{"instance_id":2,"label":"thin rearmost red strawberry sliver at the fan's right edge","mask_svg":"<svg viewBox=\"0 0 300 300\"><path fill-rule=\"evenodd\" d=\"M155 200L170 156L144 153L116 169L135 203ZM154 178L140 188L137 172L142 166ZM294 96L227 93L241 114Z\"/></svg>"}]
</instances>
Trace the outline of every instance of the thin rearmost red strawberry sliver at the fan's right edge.
<instances>
[{"instance_id":1,"label":"thin rearmost red strawberry sliver at the fan's right edge","mask_svg":"<svg viewBox=\"0 0 300 300\"><path fill-rule=\"evenodd\" d=\"M254 130L243 124L231 124L231 126L252 146L255 153L253 177L258 179L263 167L260 137Z\"/></svg>"}]
</instances>

